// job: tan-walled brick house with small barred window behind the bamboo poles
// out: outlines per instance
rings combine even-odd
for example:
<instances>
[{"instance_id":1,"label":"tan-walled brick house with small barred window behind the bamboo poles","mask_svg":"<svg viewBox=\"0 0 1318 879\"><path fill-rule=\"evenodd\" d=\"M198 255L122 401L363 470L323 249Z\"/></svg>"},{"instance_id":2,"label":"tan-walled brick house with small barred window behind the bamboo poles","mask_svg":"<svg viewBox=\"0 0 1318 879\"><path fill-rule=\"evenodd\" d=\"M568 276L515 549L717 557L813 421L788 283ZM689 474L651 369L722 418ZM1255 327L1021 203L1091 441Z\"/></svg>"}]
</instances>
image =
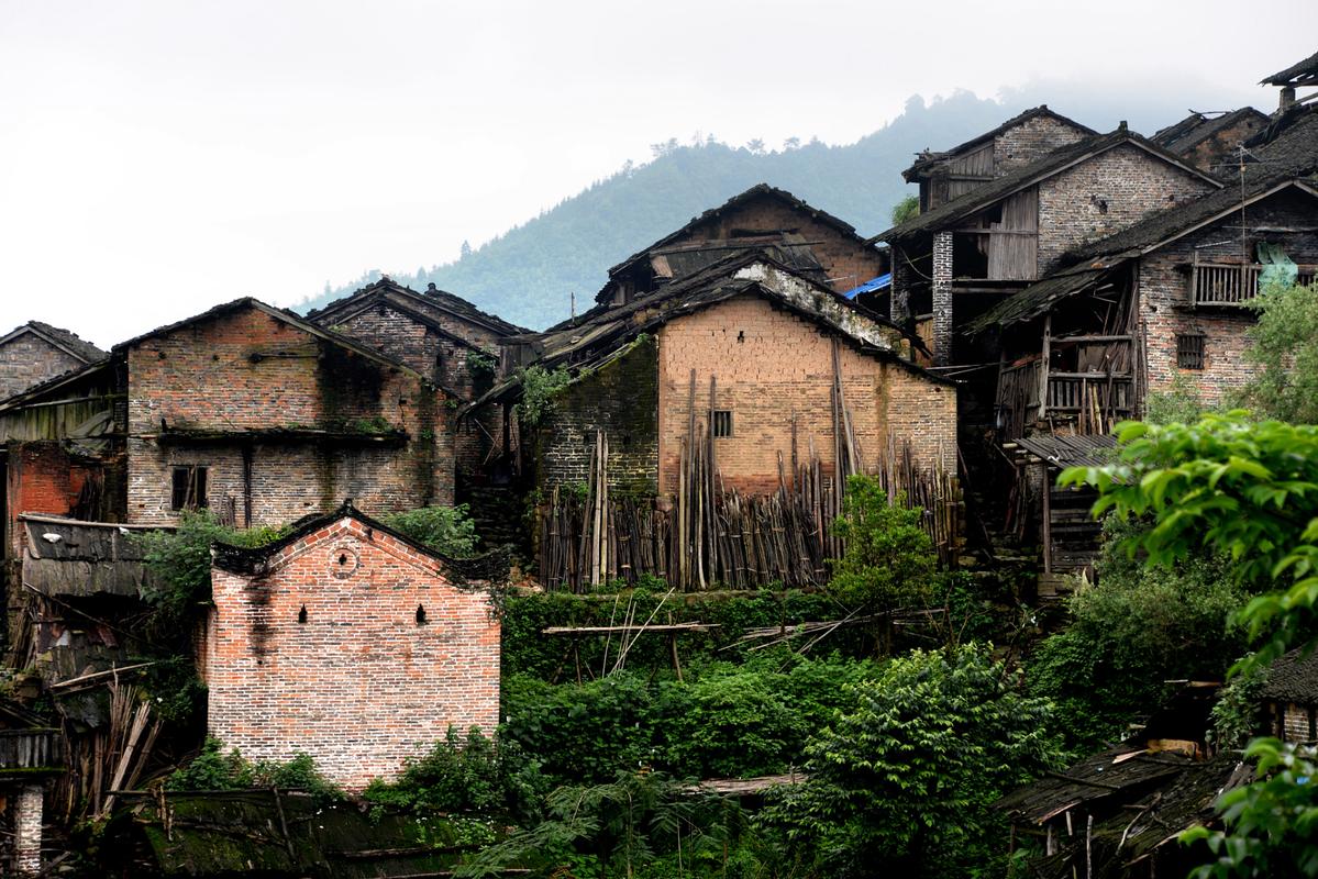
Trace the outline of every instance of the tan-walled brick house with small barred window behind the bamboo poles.
<instances>
[{"instance_id":1,"label":"tan-walled brick house with small barred window behind the bamboo poles","mask_svg":"<svg viewBox=\"0 0 1318 879\"><path fill-rule=\"evenodd\" d=\"M907 360L896 327L760 252L596 310L539 344L538 365L575 376L539 428L544 488L583 482L601 431L616 489L671 496L692 423L713 430L726 488L776 490L780 456L804 460L812 440L830 469L834 349L863 449L909 441L921 465L956 467L953 383ZM490 399L519 390L507 381Z\"/></svg>"}]
</instances>

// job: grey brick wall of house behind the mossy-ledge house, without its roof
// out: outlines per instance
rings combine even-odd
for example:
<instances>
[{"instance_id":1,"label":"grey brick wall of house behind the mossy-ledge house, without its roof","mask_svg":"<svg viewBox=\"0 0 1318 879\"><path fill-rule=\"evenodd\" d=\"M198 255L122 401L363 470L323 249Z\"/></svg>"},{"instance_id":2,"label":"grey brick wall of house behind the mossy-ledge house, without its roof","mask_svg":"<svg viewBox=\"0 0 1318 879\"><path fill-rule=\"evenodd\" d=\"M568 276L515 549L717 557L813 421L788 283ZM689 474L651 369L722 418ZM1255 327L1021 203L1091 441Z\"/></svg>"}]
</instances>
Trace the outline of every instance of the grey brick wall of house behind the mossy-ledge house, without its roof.
<instances>
[{"instance_id":1,"label":"grey brick wall of house behind the mossy-ledge house, without its roof","mask_svg":"<svg viewBox=\"0 0 1318 879\"><path fill-rule=\"evenodd\" d=\"M413 300L409 300L409 307L420 310ZM319 322L411 366L422 376L430 376L464 401L473 401L490 389L494 374L486 376L473 370L471 356L484 352L494 362L497 372L500 336L447 312L432 311L435 314L428 316L440 322L448 332L467 344L436 332L432 327L394 308L385 299L341 320L335 318L335 312L330 312ZM473 351L472 345L480 351ZM501 406L486 406L477 416L465 419L455 430L457 468L464 472L477 470L489 457L490 438L502 436L503 410Z\"/></svg>"}]
</instances>

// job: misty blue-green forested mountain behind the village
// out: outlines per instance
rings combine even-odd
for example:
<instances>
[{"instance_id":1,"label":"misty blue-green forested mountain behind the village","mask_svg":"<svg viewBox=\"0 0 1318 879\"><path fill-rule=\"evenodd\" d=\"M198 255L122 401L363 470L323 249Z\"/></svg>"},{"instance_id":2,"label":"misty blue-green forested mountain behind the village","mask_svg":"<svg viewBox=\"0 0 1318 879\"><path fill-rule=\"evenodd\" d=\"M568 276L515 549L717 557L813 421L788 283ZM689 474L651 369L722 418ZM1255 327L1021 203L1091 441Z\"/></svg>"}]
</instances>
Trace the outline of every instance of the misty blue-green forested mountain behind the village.
<instances>
[{"instance_id":1,"label":"misty blue-green forested mountain behind the village","mask_svg":"<svg viewBox=\"0 0 1318 879\"><path fill-rule=\"evenodd\" d=\"M610 266L755 183L784 188L862 235L880 232L890 225L892 206L915 191L900 173L916 152L966 141L1043 103L1035 98L1027 91L1003 100L970 92L929 104L912 98L891 123L846 146L812 141L770 152L716 141L655 145L654 161L629 165L480 248L464 248L453 262L387 274L416 290L434 282L485 311L539 329L568 316L572 293L579 312L589 307ZM1099 130L1115 127L1107 101L1073 98L1085 107L1068 107L1065 100L1049 105ZM1185 115L1178 101L1160 103L1161 109L1141 105L1132 124L1145 123L1152 130ZM320 307L380 274L368 271L298 308Z\"/></svg>"}]
</instances>

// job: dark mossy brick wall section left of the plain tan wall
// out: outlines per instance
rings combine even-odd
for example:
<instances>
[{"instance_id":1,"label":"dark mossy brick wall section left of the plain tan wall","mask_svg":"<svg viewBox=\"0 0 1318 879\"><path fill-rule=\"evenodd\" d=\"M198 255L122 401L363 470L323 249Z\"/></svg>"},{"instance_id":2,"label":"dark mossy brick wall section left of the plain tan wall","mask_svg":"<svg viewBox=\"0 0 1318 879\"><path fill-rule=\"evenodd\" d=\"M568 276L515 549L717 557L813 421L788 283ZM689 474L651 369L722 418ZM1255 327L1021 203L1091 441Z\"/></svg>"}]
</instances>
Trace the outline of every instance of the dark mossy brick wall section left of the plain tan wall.
<instances>
[{"instance_id":1,"label":"dark mossy brick wall section left of the plain tan wall","mask_svg":"<svg viewBox=\"0 0 1318 879\"><path fill-rule=\"evenodd\" d=\"M581 485L590 476L596 431L609 438L613 490L652 494L659 468L655 340L579 378L555 398L540 424L538 478L543 489Z\"/></svg>"}]
</instances>

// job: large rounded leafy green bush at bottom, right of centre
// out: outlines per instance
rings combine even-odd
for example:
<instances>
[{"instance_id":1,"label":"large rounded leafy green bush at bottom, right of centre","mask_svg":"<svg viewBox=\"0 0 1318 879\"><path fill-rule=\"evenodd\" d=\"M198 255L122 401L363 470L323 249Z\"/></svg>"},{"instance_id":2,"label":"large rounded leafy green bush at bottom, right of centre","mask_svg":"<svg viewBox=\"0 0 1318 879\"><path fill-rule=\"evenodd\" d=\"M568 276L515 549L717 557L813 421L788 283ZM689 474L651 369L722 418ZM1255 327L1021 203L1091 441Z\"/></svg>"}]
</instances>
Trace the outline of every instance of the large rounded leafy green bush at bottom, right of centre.
<instances>
[{"instance_id":1,"label":"large rounded leafy green bush at bottom, right of centre","mask_svg":"<svg viewBox=\"0 0 1318 879\"><path fill-rule=\"evenodd\" d=\"M817 875L970 875L1004 849L992 803L1060 756L1049 704L1019 683L978 644L891 660L851 688L855 708L808 746L808 780L760 821Z\"/></svg>"}]
</instances>

